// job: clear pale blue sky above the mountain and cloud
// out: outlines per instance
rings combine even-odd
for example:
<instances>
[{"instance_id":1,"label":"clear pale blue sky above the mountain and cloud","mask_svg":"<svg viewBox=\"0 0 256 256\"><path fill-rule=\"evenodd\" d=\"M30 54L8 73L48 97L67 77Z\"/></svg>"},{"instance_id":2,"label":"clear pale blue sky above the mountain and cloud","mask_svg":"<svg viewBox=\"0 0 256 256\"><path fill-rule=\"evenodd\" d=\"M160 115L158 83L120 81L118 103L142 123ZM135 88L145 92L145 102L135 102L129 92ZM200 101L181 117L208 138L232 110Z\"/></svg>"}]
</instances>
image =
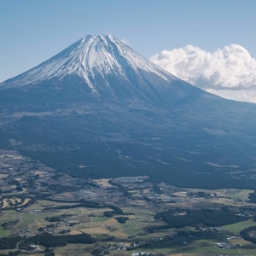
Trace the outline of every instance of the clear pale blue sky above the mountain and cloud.
<instances>
[{"instance_id":1,"label":"clear pale blue sky above the mountain and cloud","mask_svg":"<svg viewBox=\"0 0 256 256\"><path fill-rule=\"evenodd\" d=\"M255 0L1 0L0 82L87 34L111 33L149 58L192 44L256 57Z\"/></svg>"}]
</instances>

